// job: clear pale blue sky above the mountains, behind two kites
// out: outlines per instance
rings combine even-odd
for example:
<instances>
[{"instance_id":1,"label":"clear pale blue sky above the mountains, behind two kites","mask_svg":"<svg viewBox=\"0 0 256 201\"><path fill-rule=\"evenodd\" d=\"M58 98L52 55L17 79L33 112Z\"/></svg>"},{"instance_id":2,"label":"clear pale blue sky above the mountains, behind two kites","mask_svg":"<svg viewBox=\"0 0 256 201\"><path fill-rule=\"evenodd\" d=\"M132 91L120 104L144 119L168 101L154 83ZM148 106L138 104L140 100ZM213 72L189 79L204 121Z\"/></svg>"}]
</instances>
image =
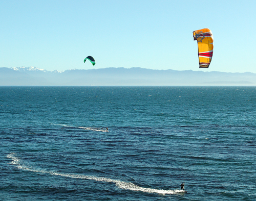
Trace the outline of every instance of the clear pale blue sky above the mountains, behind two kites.
<instances>
[{"instance_id":1,"label":"clear pale blue sky above the mountains, behind two kites","mask_svg":"<svg viewBox=\"0 0 256 201\"><path fill-rule=\"evenodd\" d=\"M0 0L0 67L256 73L255 10L255 0ZM208 69L193 40L203 28L214 35Z\"/></svg>"}]
</instances>

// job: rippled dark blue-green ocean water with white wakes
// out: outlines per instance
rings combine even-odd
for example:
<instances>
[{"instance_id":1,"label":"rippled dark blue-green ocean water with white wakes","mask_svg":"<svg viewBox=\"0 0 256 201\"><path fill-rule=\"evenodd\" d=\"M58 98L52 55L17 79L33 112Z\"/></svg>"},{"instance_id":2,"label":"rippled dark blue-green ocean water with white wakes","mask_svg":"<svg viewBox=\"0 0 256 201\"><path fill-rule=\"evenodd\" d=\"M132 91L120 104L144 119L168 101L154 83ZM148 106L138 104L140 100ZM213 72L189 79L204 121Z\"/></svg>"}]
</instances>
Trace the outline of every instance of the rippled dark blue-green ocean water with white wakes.
<instances>
[{"instance_id":1,"label":"rippled dark blue-green ocean water with white wakes","mask_svg":"<svg viewBox=\"0 0 256 201\"><path fill-rule=\"evenodd\" d=\"M256 200L256 87L0 87L0 141L0 200Z\"/></svg>"}]
</instances>

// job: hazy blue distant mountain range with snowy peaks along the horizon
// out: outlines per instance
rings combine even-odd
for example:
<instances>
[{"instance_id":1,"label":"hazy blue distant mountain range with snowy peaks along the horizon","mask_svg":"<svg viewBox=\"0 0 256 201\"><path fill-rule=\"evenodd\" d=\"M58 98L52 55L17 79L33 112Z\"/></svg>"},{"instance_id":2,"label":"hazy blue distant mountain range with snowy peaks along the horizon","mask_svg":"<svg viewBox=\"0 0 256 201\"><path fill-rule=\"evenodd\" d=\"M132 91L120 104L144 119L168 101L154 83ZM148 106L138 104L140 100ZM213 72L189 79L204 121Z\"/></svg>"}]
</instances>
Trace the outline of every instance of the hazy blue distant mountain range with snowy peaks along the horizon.
<instances>
[{"instance_id":1,"label":"hazy blue distant mountain range with snowy peaks along the horizon","mask_svg":"<svg viewBox=\"0 0 256 201\"><path fill-rule=\"evenodd\" d=\"M251 72L203 72L146 68L47 71L36 67L0 68L0 86L255 86Z\"/></svg>"}]
</instances>

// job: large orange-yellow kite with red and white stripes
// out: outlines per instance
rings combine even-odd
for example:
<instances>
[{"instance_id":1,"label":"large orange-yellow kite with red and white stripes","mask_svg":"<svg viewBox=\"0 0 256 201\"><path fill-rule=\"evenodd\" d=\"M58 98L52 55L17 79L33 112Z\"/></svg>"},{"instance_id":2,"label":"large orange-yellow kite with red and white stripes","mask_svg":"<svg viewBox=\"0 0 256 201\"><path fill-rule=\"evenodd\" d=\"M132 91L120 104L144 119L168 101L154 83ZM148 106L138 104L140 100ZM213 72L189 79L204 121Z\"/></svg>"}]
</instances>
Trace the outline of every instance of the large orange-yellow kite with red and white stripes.
<instances>
[{"instance_id":1,"label":"large orange-yellow kite with red and white stripes","mask_svg":"<svg viewBox=\"0 0 256 201\"><path fill-rule=\"evenodd\" d=\"M194 31L193 37L198 44L199 68L208 68L214 53L214 37L209 29Z\"/></svg>"}]
</instances>

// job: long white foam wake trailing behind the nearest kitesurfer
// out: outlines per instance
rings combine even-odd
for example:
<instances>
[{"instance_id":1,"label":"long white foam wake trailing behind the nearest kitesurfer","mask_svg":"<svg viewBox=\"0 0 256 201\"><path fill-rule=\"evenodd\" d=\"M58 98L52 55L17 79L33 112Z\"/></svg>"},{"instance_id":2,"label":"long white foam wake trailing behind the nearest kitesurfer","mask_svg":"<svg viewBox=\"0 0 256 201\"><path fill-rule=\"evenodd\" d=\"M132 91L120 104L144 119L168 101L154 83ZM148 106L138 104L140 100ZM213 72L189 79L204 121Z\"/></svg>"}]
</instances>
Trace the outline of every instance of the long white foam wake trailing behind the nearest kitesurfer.
<instances>
[{"instance_id":1,"label":"long white foam wake trailing behind the nearest kitesurfer","mask_svg":"<svg viewBox=\"0 0 256 201\"><path fill-rule=\"evenodd\" d=\"M87 175L83 175L83 174L65 174L65 173L58 173L58 172L34 169L34 168L29 168L25 165L21 165L20 164L21 160L15 156L15 153L8 154L6 157L10 158L12 160L12 162L9 164L15 165L19 169L24 169L24 170L32 171L32 172L48 173L48 174L52 174L52 175L56 175L56 176L68 177L68 178L74 178L74 179L94 180L97 182L112 182L112 183L116 184L118 186L118 188L121 188L121 189L132 190L132 191L142 191L142 192L147 192L147 193L176 194L176 193L185 192L183 190L158 190L158 189L152 189L152 188L143 188L143 187L137 186L130 182L122 182L119 180L112 180L112 179L103 178L103 177L93 177L93 176L87 176Z\"/></svg>"}]
</instances>

